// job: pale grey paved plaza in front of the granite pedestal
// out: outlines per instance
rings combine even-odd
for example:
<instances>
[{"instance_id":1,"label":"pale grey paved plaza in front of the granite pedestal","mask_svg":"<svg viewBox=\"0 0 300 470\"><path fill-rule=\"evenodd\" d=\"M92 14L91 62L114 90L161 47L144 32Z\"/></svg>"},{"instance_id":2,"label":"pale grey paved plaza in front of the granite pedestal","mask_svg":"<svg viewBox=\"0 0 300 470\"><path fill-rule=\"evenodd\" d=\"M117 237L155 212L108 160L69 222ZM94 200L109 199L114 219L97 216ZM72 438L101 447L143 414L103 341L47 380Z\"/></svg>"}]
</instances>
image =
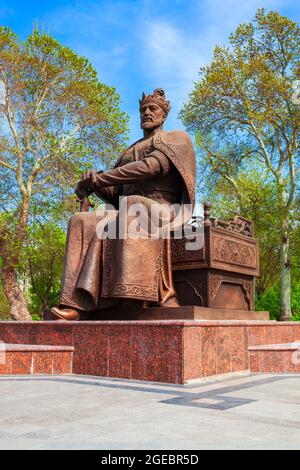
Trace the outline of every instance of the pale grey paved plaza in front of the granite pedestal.
<instances>
[{"instance_id":1,"label":"pale grey paved plaza in front of the granite pedestal","mask_svg":"<svg viewBox=\"0 0 300 470\"><path fill-rule=\"evenodd\" d=\"M299 449L300 375L2 376L0 449Z\"/></svg>"}]
</instances>

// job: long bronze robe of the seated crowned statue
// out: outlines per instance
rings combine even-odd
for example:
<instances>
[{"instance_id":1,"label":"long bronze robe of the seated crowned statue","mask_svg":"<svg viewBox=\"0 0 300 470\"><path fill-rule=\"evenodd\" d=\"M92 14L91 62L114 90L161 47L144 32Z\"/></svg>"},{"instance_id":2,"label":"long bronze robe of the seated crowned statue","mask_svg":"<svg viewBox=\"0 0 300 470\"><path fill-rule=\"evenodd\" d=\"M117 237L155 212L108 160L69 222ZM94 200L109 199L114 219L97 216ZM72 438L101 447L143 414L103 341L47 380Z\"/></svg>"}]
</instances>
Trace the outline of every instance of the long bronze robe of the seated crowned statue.
<instances>
[{"instance_id":1,"label":"long bronze robe of the seated crowned statue","mask_svg":"<svg viewBox=\"0 0 300 470\"><path fill-rule=\"evenodd\" d=\"M144 204L149 217L150 209L154 210L158 224L162 221L160 204L170 208L173 204L187 204L190 211L185 218L189 218L194 205L195 174L193 145L182 131L160 131L135 142L112 170L98 174L95 192L115 210L79 213L71 218L60 304L93 311L104 308L109 298L164 305L176 297L170 238L104 239L101 222L109 215L118 225L119 196L127 210L136 203ZM168 217L174 222L173 210ZM172 230L178 228L176 220ZM125 232L130 222L131 216L125 222ZM179 224L182 223L180 219Z\"/></svg>"}]
</instances>

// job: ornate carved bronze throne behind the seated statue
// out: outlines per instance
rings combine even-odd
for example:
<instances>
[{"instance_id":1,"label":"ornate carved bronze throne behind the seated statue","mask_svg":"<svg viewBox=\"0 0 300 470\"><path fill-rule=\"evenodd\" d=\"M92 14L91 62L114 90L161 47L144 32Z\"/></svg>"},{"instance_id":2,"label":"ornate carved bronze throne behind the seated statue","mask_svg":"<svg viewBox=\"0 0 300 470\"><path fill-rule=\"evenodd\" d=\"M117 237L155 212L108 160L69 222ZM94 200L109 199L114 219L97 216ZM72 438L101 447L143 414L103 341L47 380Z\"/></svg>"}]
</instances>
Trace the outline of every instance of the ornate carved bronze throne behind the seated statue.
<instances>
[{"instance_id":1,"label":"ornate carved bronze throne behind the seated statue","mask_svg":"<svg viewBox=\"0 0 300 470\"><path fill-rule=\"evenodd\" d=\"M204 204L202 240L196 250L188 249L187 239L172 240L173 279L180 305L254 309L254 280L259 275L258 243L253 223L236 216L228 221L210 217L211 206Z\"/></svg>"}]
</instances>

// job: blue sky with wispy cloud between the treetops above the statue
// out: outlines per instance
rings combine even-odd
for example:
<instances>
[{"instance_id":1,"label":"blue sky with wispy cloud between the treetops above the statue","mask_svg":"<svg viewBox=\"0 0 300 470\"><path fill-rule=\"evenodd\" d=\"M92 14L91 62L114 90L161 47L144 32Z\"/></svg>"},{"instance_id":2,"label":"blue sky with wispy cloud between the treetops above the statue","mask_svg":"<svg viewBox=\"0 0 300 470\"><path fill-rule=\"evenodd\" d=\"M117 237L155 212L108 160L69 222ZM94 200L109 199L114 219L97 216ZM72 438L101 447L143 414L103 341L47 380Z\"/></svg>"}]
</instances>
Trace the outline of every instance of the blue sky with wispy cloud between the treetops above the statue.
<instances>
[{"instance_id":1,"label":"blue sky with wispy cloud between the treetops above the statue","mask_svg":"<svg viewBox=\"0 0 300 470\"><path fill-rule=\"evenodd\" d=\"M172 110L165 128L182 128L177 114L216 44L257 8L299 21L296 0L0 0L0 22L26 38L35 20L60 42L88 57L101 81L116 87L140 138L138 98L165 89Z\"/></svg>"}]
</instances>

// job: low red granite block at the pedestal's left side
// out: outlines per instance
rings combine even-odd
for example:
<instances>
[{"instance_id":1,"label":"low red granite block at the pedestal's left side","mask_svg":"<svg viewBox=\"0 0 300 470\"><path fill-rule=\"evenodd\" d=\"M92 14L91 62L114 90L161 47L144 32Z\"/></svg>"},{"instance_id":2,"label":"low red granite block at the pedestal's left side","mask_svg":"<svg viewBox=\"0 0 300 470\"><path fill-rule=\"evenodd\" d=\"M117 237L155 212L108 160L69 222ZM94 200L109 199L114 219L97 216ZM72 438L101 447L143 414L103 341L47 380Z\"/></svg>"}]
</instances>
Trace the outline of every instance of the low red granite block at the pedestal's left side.
<instances>
[{"instance_id":1,"label":"low red granite block at the pedestal's left side","mask_svg":"<svg viewBox=\"0 0 300 470\"><path fill-rule=\"evenodd\" d=\"M72 346L0 342L0 375L71 374Z\"/></svg>"}]
</instances>

